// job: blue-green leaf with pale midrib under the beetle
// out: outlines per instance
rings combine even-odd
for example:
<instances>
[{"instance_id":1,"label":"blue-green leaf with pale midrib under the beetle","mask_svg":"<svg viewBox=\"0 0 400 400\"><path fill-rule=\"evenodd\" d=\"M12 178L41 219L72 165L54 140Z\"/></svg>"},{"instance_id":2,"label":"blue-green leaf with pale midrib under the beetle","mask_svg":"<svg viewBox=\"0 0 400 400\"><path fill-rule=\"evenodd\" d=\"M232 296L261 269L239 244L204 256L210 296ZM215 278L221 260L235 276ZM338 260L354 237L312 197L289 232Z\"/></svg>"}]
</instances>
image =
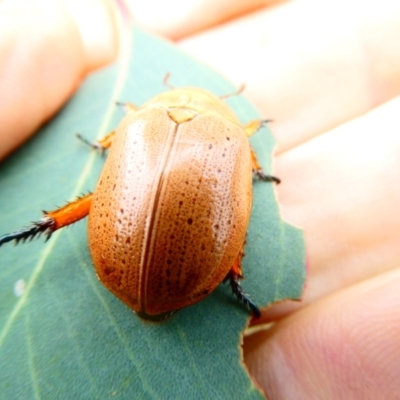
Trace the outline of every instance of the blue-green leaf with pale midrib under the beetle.
<instances>
[{"instance_id":1,"label":"blue-green leaf with pale midrib under the beetle","mask_svg":"<svg viewBox=\"0 0 400 400\"><path fill-rule=\"evenodd\" d=\"M75 139L104 136L123 116L115 101L141 104L174 86L222 95L235 88L170 44L135 29L120 60L92 74L34 139L0 166L0 232L94 190L104 159ZM242 95L228 99L243 122L259 118ZM264 116L264 117L270 117ZM270 171L266 128L252 143ZM0 249L0 393L5 399L259 399L241 363L250 312L221 285L162 323L140 320L97 280L86 221ZM244 289L259 305L301 295L301 233L278 216L273 185L254 183ZM24 287L23 293L18 292Z\"/></svg>"}]
</instances>

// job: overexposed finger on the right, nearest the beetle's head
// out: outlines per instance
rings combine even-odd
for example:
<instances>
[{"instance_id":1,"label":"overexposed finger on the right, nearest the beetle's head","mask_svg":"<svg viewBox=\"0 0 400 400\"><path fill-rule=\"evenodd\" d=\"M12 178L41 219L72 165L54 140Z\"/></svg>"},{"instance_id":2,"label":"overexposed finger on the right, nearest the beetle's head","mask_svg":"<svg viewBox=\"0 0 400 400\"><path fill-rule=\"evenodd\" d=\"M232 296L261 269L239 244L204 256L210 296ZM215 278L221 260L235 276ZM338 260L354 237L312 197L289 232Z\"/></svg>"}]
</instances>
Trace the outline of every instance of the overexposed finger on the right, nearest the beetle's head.
<instances>
[{"instance_id":1,"label":"overexposed finger on the right, nearest the beetle's head","mask_svg":"<svg viewBox=\"0 0 400 400\"><path fill-rule=\"evenodd\" d=\"M279 151L400 93L400 2L291 1L179 42L276 121Z\"/></svg>"}]
</instances>

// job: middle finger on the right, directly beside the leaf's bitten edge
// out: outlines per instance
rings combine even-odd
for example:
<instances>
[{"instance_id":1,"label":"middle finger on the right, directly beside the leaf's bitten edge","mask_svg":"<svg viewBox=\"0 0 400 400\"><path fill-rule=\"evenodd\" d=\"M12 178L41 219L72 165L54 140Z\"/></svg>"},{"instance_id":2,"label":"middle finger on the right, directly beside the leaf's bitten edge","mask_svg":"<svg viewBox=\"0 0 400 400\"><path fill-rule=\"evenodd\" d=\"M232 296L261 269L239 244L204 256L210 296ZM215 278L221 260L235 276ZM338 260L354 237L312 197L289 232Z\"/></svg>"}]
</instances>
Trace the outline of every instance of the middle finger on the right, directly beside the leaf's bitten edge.
<instances>
[{"instance_id":1,"label":"middle finger on the right, directly beside the leaf's bitten edge","mask_svg":"<svg viewBox=\"0 0 400 400\"><path fill-rule=\"evenodd\" d=\"M304 229L305 301L400 262L400 97L276 160L282 216Z\"/></svg>"}]
</instances>

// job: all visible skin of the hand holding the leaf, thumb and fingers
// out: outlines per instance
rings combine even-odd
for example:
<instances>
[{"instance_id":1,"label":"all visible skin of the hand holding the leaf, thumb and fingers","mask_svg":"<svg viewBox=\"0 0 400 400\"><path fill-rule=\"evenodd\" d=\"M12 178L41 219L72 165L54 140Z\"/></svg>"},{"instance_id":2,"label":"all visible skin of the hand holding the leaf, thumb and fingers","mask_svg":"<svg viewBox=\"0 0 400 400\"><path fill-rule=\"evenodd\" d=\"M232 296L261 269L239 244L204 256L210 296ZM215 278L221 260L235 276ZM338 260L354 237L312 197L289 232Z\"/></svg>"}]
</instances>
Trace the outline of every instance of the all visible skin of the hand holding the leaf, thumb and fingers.
<instances>
[{"instance_id":1,"label":"all visible skin of the hand holding the leaf, thumb and fingers","mask_svg":"<svg viewBox=\"0 0 400 400\"><path fill-rule=\"evenodd\" d=\"M275 121L276 192L309 275L245 338L251 374L273 400L400 398L400 3L269 3L126 1ZM0 156L115 58L113 15L106 0L0 3Z\"/></svg>"}]
</instances>

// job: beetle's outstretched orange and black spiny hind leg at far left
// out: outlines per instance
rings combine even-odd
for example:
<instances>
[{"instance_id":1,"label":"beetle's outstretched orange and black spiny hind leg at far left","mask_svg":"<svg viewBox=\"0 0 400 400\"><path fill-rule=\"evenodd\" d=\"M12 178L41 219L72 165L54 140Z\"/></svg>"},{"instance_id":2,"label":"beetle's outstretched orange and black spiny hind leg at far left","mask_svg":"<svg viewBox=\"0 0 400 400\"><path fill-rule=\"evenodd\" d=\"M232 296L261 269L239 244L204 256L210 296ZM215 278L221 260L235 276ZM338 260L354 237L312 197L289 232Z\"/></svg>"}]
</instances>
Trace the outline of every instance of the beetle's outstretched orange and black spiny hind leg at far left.
<instances>
[{"instance_id":1,"label":"beetle's outstretched orange and black spiny hind leg at far left","mask_svg":"<svg viewBox=\"0 0 400 400\"><path fill-rule=\"evenodd\" d=\"M40 221L33 222L30 226L19 231L0 236L0 246L12 240L15 240L16 243L32 240L42 233L46 235L47 241L57 229L71 225L86 217L89 214L91 204L92 194L90 193L57 210L43 211L43 218Z\"/></svg>"}]
</instances>

